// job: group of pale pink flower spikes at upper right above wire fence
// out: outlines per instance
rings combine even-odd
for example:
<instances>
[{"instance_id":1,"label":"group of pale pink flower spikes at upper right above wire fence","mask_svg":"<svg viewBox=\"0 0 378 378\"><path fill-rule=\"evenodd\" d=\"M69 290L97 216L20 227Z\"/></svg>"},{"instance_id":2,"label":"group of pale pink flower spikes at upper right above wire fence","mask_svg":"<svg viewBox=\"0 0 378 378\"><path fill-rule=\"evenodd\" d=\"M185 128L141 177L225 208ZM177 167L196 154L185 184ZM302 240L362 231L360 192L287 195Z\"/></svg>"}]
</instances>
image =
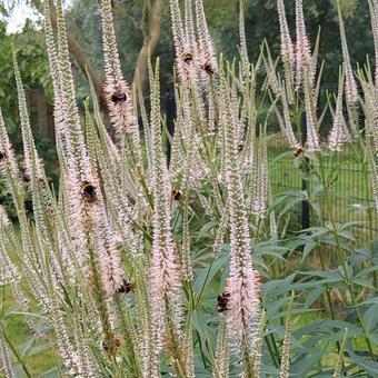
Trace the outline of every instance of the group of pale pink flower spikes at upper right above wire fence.
<instances>
[{"instance_id":1,"label":"group of pale pink flower spikes at upper right above wire fence","mask_svg":"<svg viewBox=\"0 0 378 378\"><path fill-rule=\"evenodd\" d=\"M281 127L282 135L288 140L295 155L300 155L305 147L301 147L297 140L290 120L290 106L294 102L295 89L298 96L305 103L306 113L306 150L308 152L316 152L321 150L321 142L319 137L319 128L322 117L317 116L318 98L320 90L320 76L317 78L317 56L318 46L315 49L314 54L310 52L310 42L306 31L305 16L302 0L296 0L296 43L292 42L290 37L289 27L286 19L285 4L282 0L277 0L277 9L279 14L280 36L281 36L281 60L285 68L285 80L280 82L270 80L270 87L277 98L280 98L282 105L284 116L276 115ZM340 22L340 36L341 47L344 54L344 71L340 73L342 80L339 82L338 96L336 98L336 110L334 115L334 123L331 131L328 136L325 147L334 151L340 151L345 143L349 142L356 133L356 103L357 84L354 77L354 72L350 64L350 58L348 47L346 42L345 28L339 9L339 22ZM268 64L270 71L276 71L275 67ZM275 78L276 74L275 74ZM295 84L294 84L295 83ZM344 91L344 86L346 90ZM348 118L351 132L348 129L346 119L344 117L344 93L348 103Z\"/></svg>"}]
</instances>

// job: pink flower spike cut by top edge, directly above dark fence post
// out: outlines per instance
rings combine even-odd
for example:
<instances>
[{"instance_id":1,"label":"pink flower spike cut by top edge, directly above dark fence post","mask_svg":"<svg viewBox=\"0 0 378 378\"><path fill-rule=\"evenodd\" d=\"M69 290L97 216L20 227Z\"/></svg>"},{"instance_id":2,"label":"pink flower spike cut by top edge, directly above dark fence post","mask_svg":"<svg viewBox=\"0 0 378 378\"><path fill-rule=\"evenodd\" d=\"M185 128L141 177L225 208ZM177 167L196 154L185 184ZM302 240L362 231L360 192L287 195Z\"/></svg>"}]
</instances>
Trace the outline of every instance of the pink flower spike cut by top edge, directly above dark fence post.
<instances>
[{"instance_id":1,"label":"pink flower spike cut by top edge, directly above dark fence post","mask_svg":"<svg viewBox=\"0 0 378 378\"><path fill-rule=\"evenodd\" d=\"M304 70L308 71L312 87L315 72L312 72L310 41L307 36L302 0L296 0L296 83L299 88L304 83Z\"/></svg>"}]
</instances>

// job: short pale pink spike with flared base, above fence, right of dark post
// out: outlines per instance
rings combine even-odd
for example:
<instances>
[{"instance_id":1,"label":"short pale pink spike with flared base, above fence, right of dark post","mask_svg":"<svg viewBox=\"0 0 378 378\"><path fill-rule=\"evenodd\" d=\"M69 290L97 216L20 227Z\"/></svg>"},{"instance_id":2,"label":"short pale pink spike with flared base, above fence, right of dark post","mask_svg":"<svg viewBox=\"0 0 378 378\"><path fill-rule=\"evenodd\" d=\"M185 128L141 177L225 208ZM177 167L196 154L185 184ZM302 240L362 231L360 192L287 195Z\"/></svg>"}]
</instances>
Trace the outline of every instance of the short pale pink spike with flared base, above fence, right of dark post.
<instances>
[{"instance_id":1,"label":"short pale pink spike with flared base, above fence, right of dark post","mask_svg":"<svg viewBox=\"0 0 378 378\"><path fill-rule=\"evenodd\" d=\"M328 136L328 148L332 151L341 151L345 143L350 141L350 133L342 115L342 96L344 96L344 74L340 74L339 90L336 100L336 110L334 116L334 126Z\"/></svg>"}]
</instances>

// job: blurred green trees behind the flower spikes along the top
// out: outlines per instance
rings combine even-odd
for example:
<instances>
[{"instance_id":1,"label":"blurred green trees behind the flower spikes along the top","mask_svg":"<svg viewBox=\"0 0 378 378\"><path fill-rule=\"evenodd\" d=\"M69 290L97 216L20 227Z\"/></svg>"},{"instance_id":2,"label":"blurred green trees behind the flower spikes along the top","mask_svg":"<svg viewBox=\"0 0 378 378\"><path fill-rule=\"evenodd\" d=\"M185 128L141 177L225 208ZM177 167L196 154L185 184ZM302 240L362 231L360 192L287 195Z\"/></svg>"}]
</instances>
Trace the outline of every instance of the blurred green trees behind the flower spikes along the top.
<instances>
[{"instance_id":1,"label":"blurred green trees behind the flower spikes along the top","mask_svg":"<svg viewBox=\"0 0 378 378\"><path fill-rule=\"evenodd\" d=\"M27 21L24 27L16 33L7 33L7 23L12 8L26 2L28 7L40 11L40 0L0 1L2 20L0 22L0 106L10 130L11 139L20 150L20 132L18 127L17 93L14 90L11 47L18 53L21 74L27 89L41 89L47 103L52 102L51 82L44 47L42 21ZM149 18L156 0L113 0L113 14L120 46L121 63L125 77L132 81L136 73L138 56L143 40L149 36ZM320 60L325 60L324 87L334 90L337 87L338 66L340 64L341 48L337 21L335 0L305 0L306 22L310 39L315 41L319 26ZM364 63L366 57L372 57L372 36L368 3L366 0L342 0L342 12L349 40L352 63ZM206 0L206 12L209 27L213 36L218 52L227 59L238 54L238 17L239 1ZM251 60L256 60L260 52L260 44L267 39L273 56L279 52L279 24L275 0L245 0L246 29L248 50ZM295 30L295 1L286 1L288 21ZM102 53L99 3L97 0L71 0L68 3L68 31L77 43L77 51L72 53L73 72L78 84L78 99L88 94L88 84L83 73L84 64L91 68L93 80L99 88L102 83ZM170 28L169 1L162 0L160 18L160 36L153 50L161 62L161 92L169 94L173 82L173 41ZM84 59L84 60L82 60ZM50 108L51 110L52 108ZM50 111L51 117L51 111ZM38 120L32 120L38 122ZM50 122L50 128L52 123ZM275 126L270 126L270 129ZM54 172L53 138L39 135L38 125L32 125L39 150L48 162L49 175ZM49 133L53 136L53 132ZM0 185L0 201L8 202Z\"/></svg>"}]
</instances>

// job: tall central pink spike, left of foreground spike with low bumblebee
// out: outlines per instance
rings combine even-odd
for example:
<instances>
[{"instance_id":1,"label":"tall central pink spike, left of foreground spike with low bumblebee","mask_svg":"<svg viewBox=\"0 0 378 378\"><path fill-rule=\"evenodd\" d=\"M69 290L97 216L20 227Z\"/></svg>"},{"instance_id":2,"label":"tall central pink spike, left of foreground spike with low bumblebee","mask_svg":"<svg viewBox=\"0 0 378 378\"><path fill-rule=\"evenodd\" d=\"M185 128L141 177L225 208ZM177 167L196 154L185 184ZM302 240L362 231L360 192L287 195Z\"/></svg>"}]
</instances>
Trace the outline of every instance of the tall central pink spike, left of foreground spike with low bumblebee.
<instances>
[{"instance_id":1,"label":"tall central pink spike, left of foreground spike with low bumblebee","mask_svg":"<svg viewBox=\"0 0 378 378\"><path fill-rule=\"evenodd\" d=\"M153 196L150 298L152 314L155 315L156 337L161 348L165 335L169 332L167 328L169 327L168 324L173 324L176 327L173 331L177 335L180 334L181 284L180 269L173 251L172 230L170 226L171 185L166 157L162 151L158 64L159 61L153 73L151 63L149 63L151 83L151 187ZM168 308L170 309L170 314L167 314Z\"/></svg>"}]
</instances>

